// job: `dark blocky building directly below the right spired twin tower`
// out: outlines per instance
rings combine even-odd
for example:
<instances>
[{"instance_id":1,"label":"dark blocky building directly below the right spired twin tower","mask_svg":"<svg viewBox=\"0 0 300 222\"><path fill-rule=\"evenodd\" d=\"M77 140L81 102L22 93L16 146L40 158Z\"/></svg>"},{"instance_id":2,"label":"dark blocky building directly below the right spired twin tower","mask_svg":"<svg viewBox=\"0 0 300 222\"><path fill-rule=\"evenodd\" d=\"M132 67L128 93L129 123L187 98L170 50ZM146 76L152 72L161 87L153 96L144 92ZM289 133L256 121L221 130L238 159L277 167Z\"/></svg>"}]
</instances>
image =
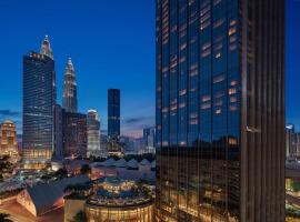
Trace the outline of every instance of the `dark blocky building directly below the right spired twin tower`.
<instances>
[{"instance_id":1,"label":"dark blocky building directly below the right spired twin tower","mask_svg":"<svg viewBox=\"0 0 300 222\"><path fill-rule=\"evenodd\" d=\"M87 115L81 113L62 113L63 133L63 157L86 157L87 138Z\"/></svg>"}]
</instances>

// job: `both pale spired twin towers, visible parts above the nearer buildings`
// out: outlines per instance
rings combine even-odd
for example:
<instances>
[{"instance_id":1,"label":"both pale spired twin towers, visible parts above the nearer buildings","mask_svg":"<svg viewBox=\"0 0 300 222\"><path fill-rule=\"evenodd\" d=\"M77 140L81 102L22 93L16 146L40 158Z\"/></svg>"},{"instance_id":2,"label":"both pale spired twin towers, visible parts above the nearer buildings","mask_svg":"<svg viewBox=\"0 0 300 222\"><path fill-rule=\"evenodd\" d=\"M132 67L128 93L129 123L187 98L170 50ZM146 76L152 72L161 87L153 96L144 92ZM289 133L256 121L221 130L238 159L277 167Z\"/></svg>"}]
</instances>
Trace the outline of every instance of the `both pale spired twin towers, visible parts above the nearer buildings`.
<instances>
[{"instance_id":1,"label":"both pale spired twin towers, visible parts above the nearer buildings","mask_svg":"<svg viewBox=\"0 0 300 222\"><path fill-rule=\"evenodd\" d=\"M53 52L48 36L44 37L40 53L53 60ZM69 57L64 71L62 108L67 112L78 112L76 71L71 57Z\"/></svg>"}]
</instances>

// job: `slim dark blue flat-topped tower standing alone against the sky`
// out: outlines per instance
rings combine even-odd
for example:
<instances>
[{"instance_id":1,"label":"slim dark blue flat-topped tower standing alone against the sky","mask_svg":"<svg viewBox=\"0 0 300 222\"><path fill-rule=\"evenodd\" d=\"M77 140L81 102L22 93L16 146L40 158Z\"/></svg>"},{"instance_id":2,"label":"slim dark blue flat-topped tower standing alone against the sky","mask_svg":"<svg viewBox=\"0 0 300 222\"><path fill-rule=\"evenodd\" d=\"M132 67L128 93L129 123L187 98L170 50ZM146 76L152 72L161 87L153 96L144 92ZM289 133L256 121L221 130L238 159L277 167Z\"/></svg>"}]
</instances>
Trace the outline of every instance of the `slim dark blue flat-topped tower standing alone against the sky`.
<instances>
[{"instance_id":1,"label":"slim dark blue flat-topped tower standing alone against the sky","mask_svg":"<svg viewBox=\"0 0 300 222\"><path fill-rule=\"evenodd\" d=\"M108 90L108 135L118 138L120 135L120 90Z\"/></svg>"}]
</instances>

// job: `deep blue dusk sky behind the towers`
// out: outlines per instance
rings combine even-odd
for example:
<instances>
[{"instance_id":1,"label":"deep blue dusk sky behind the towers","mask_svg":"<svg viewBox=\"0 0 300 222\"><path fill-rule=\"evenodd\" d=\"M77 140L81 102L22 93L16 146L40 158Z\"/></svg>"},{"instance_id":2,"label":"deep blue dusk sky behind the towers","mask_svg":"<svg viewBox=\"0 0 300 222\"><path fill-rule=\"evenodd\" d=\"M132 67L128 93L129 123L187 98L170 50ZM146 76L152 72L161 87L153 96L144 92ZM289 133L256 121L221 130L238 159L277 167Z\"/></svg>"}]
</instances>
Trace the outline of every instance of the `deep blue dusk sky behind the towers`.
<instances>
[{"instance_id":1,"label":"deep blue dusk sky behind the towers","mask_svg":"<svg viewBox=\"0 0 300 222\"><path fill-rule=\"evenodd\" d=\"M96 109L107 130L107 90L121 89L121 131L154 125L154 0L1 0L0 121L21 133L22 56L44 34L54 54L58 103L72 57L80 112ZM300 0L287 0L287 122L300 130Z\"/></svg>"}]
</instances>

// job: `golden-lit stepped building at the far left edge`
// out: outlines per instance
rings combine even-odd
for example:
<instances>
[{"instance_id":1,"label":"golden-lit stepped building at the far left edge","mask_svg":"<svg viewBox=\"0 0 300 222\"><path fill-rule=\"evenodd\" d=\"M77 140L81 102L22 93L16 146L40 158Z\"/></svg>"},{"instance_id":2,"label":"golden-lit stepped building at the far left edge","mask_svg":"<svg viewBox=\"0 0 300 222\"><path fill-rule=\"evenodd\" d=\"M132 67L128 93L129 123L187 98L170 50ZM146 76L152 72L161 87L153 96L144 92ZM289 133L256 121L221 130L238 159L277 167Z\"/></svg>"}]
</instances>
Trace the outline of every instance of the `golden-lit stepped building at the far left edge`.
<instances>
[{"instance_id":1,"label":"golden-lit stepped building at the far left edge","mask_svg":"<svg viewBox=\"0 0 300 222\"><path fill-rule=\"evenodd\" d=\"M0 125L0 155L10 157L12 162L19 159L16 125L9 120Z\"/></svg>"}]
</instances>

